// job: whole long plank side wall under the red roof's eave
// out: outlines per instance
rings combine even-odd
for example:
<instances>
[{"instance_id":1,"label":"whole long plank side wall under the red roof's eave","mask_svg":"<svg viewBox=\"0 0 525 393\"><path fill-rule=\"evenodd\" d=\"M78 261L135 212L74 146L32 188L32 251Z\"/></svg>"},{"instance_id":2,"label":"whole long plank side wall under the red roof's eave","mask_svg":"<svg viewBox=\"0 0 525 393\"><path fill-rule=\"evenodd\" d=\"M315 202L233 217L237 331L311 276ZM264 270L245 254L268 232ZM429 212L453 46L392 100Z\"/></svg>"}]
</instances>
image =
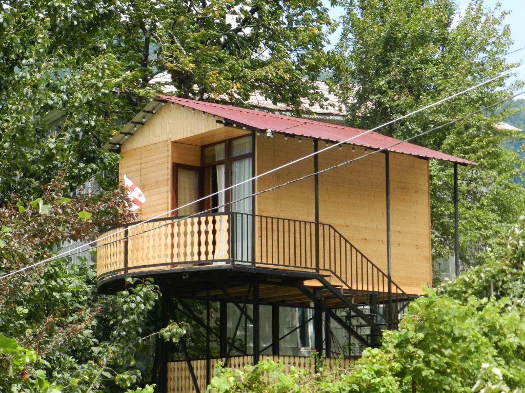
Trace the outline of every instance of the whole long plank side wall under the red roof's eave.
<instances>
[{"instance_id":1,"label":"whole long plank side wall under the red roof's eave","mask_svg":"<svg viewBox=\"0 0 525 393\"><path fill-rule=\"evenodd\" d=\"M319 149L325 147L320 143ZM313 151L311 139L257 139L256 172L262 173ZM319 155L319 168L360 157L365 149L344 146ZM432 281L430 260L430 222L428 161L401 154L390 154L392 277L403 290L421 294L422 286ZM259 178L257 191L313 172L313 158ZM331 224L364 255L386 272L386 193L385 156L375 154L319 176L319 220ZM314 221L313 178L302 180L257 197L260 215ZM256 234L271 233L271 228L257 225ZM259 229L261 231L259 231ZM274 232L276 229L274 228ZM277 238L277 236L274 236ZM282 235L281 235L282 238ZM307 237L308 238L308 237ZM256 237L256 258L261 236ZM276 241L268 245L277 248ZM282 245L280 245L282 247ZM262 254L266 253L266 244ZM320 257L322 260L322 256ZM269 255L267 263L277 263ZM286 263L286 260L285 260ZM307 263L308 264L308 263ZM336 273L344 276L347 266Z\"/></svg>"}]
</instances>

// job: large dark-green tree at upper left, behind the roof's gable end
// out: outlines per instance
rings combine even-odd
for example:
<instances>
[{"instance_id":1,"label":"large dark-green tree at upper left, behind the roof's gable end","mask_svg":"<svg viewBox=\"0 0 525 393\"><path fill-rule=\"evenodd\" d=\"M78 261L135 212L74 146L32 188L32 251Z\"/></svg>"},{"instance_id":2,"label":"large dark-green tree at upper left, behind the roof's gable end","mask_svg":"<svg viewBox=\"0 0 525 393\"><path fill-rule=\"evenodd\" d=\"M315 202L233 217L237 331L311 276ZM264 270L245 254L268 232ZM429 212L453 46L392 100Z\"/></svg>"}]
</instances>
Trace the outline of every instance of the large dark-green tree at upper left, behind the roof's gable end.
<instances>
[{"instance_id":1,"label":"large dark-green tree at upper left, behind the roof's gable end","mask_svg":"<svg viewBox=\"0 0 525 393\"><path fill-rule=\"evenodd\" d=\"M0 203L36 198L59 171L71 192L92 176L114 187L118 157L101 147L159 91L159 72L199 100L321 101L334 24L320 0L1 4Z\"/></svg>"}]
</instances>

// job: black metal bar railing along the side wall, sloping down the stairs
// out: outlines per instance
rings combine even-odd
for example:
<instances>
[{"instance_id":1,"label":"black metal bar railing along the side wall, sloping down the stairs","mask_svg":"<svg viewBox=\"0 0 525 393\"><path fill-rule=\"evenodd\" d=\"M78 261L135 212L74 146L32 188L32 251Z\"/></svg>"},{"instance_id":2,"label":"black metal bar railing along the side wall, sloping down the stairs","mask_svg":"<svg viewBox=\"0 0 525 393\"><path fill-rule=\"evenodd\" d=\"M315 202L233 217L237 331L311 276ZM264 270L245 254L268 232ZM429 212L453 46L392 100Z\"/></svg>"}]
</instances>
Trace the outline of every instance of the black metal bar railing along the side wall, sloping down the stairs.
<instances>
[{"instance_id":1,"label":"black metal bar railing along the side wall, sloping down the stairs","mask_svg":"<svg viewBox=\"0 0 525 393\"><path fill-rule=\"evenodd\" d=\"M332 225L234 214L236 223L241 222L243 227L255 231L255 238L241 232L250 244L255 243L255 248L250 258L234 258L236 262L328 274L333 286L352 294L356 302L369 307L370 312L379 315L385 324L390 327L397 325L399 314L410 297Z\"/></svg>"}]
</instances>

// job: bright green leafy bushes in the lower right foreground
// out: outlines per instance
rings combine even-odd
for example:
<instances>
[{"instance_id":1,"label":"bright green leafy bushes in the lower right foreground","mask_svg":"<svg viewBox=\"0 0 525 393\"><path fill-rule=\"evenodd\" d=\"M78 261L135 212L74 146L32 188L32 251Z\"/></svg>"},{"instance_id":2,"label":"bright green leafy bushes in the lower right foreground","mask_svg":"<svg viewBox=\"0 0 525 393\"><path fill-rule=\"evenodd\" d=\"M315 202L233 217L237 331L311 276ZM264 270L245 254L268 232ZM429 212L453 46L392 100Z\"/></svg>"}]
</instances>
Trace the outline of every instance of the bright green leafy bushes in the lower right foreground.
<instances>
[{"instance_id":1,"label":"bright green leafy bushes in the lower right foreground","mask_svg":"<svg viewBox=\"0 0 525 393\"><path fill-rule=\"evenodd\" d=\"M525 217L505 254L487 256L455 282L413 301L400 329L385 331L380 348L365 350L352 369L304 376L263 362L220 368L211 392L509 392L525 386ZM268 387L262 388L265 381Z\"/></svg>"}]
</instances>

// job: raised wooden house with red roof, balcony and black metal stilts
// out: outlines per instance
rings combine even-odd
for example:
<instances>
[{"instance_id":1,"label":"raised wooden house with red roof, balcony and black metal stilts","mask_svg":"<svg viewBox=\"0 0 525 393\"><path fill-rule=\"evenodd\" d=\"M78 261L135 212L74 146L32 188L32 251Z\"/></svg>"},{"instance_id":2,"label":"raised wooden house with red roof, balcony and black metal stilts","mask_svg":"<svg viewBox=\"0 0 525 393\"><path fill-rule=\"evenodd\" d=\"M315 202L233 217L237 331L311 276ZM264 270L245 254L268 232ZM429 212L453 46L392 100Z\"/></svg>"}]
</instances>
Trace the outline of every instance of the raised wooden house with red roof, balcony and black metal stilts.
<instances>
[{"instance_id":1,"label":"raised wooden house with red roof, balcony and black metal stilts","mask_svg":"<svg viewBox=\"0 0 525 393\"><path fill-rule=\"evenodd\" d=\"M171 96L149 103L106 147L120 152L120 177L146 202L144 222L101 234L100 290L153 277L165 321L182 312L207 329L200 359L184 340L178 362L158 344L156 381L169 392L204 391L218 361L269 356L313 367L280 351L281 308L312 310L324 362L377 345L432 282L429 159L474 164L362 129ZM188 300L207 304L204 314ZM238 323L228 325L228 310ZM244 350L235 344L241 319L253 326ZM339 351L334 329L346 337Z\"/></svg>"}]
</instances>

